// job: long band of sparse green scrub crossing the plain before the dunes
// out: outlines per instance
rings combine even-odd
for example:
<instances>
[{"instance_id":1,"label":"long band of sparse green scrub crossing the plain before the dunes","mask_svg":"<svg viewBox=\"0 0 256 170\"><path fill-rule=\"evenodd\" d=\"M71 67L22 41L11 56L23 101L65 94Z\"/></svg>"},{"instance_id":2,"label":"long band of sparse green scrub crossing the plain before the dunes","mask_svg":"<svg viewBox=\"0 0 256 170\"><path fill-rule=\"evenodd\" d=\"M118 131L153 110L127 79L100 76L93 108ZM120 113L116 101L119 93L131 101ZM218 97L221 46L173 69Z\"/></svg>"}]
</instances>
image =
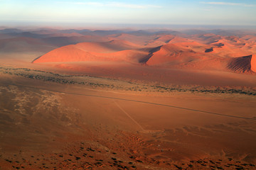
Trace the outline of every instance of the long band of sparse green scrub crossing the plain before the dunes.
<instances>
[{"instance_id":1,"label":"long band of sparse green scrub crossing the plain before the dunes","mask_svg":"<svg viewBox=\"0 0 256 170\"><path fill-rule=\"evenodd\" d=\"M131 81L119 81L109 78L100 78L92 76L78 76L78 75L65 75L55 74L53 72L44 72L41 70L26 69L26 68L9 68L0 67L2 74L10 74L18 77L26 77L28 79L38 79L43 81L50 81L58 84L78 84L84 86L90 86L91 88L104 88L104 89L117 89L122 91L158 91L165 92L190 92L198 94L242 94L247 96L256 96L255 89L246 89L245 87L203 87L203 86L153 86L147 84L137 84ZM77 79L80 78L80 79ZM100 83L102 80L105 83ZM121 85L127 84L127 85Z\"/></svg>"}]
</instances>

